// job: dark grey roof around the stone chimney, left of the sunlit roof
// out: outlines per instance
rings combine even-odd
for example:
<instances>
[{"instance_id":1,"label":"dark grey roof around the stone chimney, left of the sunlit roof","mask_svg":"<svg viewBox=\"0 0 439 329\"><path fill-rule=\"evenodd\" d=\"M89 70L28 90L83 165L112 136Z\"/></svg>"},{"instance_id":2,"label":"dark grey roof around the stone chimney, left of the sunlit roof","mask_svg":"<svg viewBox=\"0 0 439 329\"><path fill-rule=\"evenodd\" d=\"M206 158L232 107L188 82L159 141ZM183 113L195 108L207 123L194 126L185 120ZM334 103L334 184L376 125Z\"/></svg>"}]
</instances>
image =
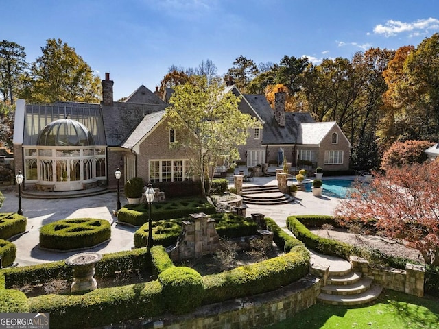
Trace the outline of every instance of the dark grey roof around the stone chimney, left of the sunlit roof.
<instances>
[{"instance_id":1,"label":"dark grey roof around the stone chimney, left of the sunlit roof","mask_svg":"<svg viewBox=\"0 0 439 329\"><path fill-rule=\"evenodd\" d=\"M262 145L269 144L295 144L299 143L300 124L314 123L309 113L285 112L285 127L281 127L274 119L274 110L271 108L264 95L244 95L252 109L257 112L263 125Z\"/></svg>"}]
</instances>

